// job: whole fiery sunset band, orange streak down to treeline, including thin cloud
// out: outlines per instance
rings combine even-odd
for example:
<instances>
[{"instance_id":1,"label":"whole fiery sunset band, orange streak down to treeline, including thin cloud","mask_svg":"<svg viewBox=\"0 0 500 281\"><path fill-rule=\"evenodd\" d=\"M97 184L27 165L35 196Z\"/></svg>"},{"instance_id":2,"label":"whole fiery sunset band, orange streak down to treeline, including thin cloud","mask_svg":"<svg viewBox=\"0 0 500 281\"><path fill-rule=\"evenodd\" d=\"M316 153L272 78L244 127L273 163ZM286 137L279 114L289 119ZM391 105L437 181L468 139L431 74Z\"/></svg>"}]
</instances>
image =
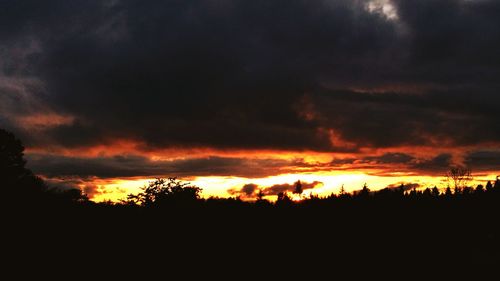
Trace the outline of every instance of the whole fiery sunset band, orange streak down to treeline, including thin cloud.
<instances>
[{"instance_id":1,"label":"whole fiery sunset band, orange streak down to treeline, including thin cloud","mask_svg":"<svg viewBox=\"0 0 500 281\"><path fill-rule=\"evenodd\" d=\"M400 184L417 189L437 186L443 190L450 184L445 177L448 165L463 164L467 161L463 151L474 149L402 147L399 148L401 152L365 149L362 153L332 155L314 151L223 151L208 148L143 152L138 147L140 145L133 142L116 142L112 146L96 146L81 151L53 150L50 153L57 152L61 158L52 164L68 171L62 177L49 175L47 180L57 185L65 182L72 184L97 202L126 199L128 194L139 192L141 187L161 177L177 177L201 187L205 198L239 197L243 200L256 198L256 193L245 194L241 191L245 185L252 184L265 190L281 184L293 186L298 180L318 183L305 190L303 196L337 194L342 186L346 192L353 192L360 190L364 184L371 190ZM442 160L436 158L436 151L443 155ZM45 151L30 150L28 157L35 169L43 169L37 168L41 165L38 162L45 161L50 155ZM75 160L82 163L71 167ZM444 166L436 167L436 161L445 161ZM75 175L92 165L96 169L94 174L83 178ZM143 176L120 177L120 174L128 173L128 165L140 167L134 172ZM188 170L184 170L184 166ZM100 170L106 173L100 175ZM494 170L478 169L471 184L484 185L486 181L495 179L496 174ZM291 194L291 190L288 191ZM265 198L275 200L276 194L266 194Z\"/></svg>"}]
</instances>

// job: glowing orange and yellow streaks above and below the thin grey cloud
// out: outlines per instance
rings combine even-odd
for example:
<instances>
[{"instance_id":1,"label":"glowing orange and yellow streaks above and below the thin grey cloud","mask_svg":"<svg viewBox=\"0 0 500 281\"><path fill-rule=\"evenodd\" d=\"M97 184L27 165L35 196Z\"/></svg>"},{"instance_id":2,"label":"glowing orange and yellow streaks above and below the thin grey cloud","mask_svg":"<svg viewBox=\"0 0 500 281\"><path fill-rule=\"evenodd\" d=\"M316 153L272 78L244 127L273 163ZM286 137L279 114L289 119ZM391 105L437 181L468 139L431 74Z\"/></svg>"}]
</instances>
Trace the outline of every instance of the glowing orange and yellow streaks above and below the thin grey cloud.
<instances>
[{"instance_id":1,"label":"glowing orange and yellow streaks above and below the thin grey cloud","mask_svg":"<svg viewBox=\"0 0 500 281\"><path fill-rule=\"evenodd\" d=\"M55 118L57 119L57 118ZM54 120L55 120L54 119ZM65 122L63 119L59 120ZM58 122L59 122L58 121ZM333 144L349 146L349 143L343 142L335 132L328 132ZM179 175L180 179L191 182L203 189L202 196L229 197L229 190L241 189L246 184L256 184L261 188L270 187L278 184L293 184L297 180L302 182L322 182L323 185L314 189L305 190L307 196L310 193L319 196L327 196L331 193L338 193L342 185L347 192L359 190L366 183L371 190L379 190L389 185L400 183L419 184L421 187L446 188L447 182L444 179L442 170L433 171L419 170L412 168L407 163L384 163L377 162L376 157L384 156L390 153L401 153L415 158L410 160L412 164L418 164L420 161L432 160L440 154L449 154L452 157L452 164L462 164L463 156L468 151L474 151L477 147L429 147L429 146L400 146L397 148L361 148L357 152L318 152L318 151L279 151L279 150L223 150L214 148L168 148L146 150L145 144L130 140L116 139L97 146L79 147L79 148L28 148L28 153L47 153L53 155L80 157L82 159L91 159L93 157L114 157L117 155L131 155L144 157L153 162L151 166L158 164L161 167L162 162L175 165L176 160L204 159L210 157L248 159L247 166L237 169L235 166L229 169L223 169L220 174L231 174L238 176L219 176L214 174L199 172L198 176L188 176L189 170L180 171L174 175L155 175L148 177L128 177L116 179L91 179L83 180L80 187L85 189L92 186L96 191L92 194L94 201L112 200L117 201L125 199L129 193L137 193L140 188L147 185L155 177ZM484 145L483 148L495 148L493 144ZM498 149L498 148L496 148ZM367 158L365 158L367 157ZM372 157L374 160L370 160ZM259 170L260 174L252 174L254 168L258 168L260 163L251 162L254 160L284 160L283 163L270 165L264 172ZM335 161L336 162L335 162ZM338 160L338 161L337 161ZM342 160L346 160L345 163ZM151 164L151 163L149 163ZM264 163L265 164L265 163ZM257 165L257 166L252 166ZM281 166L280 166L281 165ZM232 170L231 170L232 169ZM473 172L474 167L472 167ZM154 172L162 171L156 169ZM250 171L250 173L246 173ZM269 173L267 173L269 171ZM168 170L165 173L169 173ZM485 183L486 180L494 180L496 173L493 171L478 171L481 177L476 178L474 185ZM201 176L203 175L203 176ZM133 176L133 175L132 175ZM184 176L184 177L183 177ZM274 199L269 196L268 199Z\"/></svg>"}]
</instances>

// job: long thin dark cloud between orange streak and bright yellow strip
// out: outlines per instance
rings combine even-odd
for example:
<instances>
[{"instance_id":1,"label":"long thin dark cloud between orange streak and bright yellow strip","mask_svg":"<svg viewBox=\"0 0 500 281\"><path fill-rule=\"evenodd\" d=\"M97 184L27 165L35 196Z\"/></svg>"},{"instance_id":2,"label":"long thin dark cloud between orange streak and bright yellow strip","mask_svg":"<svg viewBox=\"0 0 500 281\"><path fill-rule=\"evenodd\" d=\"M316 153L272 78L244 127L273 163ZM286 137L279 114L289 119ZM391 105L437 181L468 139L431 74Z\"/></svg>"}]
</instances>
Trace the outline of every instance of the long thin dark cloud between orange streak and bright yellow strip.
<instances>
[{"instance_id":1,"label":"long thin dark cloud between orange streak and bright yellow strip","mask_svg":"<svg viewBox=\"0 0 500 281\"><path fill-rule=\"evenodd\" d=\"M367 174L391 176L392 172L419 173L427 175L445 173L452 162L451 154L438 154L431 158L419 158L404 153L386 153L379 156L333 159L326 163L308 163L303 159L253 159L252 157L202 157L176 160L152 161L137 155L111 157L67 157L51 154L28 154L28 168L49 178L117 178L157 176L238 176L246 178L267 177L297 171L350 171L363 170ZM496 151L477 151L465 155L464 165L474 172L500 169ZM380 171L380 170L383 171ZM62 183L61 183L62 184ZM307 187L307 186L305 186ZM276 189L286 186L277 186ZM306 188L304 188L306 189ZM252 185L237 193L256 192Z\"/></svg>"}]
</instances>

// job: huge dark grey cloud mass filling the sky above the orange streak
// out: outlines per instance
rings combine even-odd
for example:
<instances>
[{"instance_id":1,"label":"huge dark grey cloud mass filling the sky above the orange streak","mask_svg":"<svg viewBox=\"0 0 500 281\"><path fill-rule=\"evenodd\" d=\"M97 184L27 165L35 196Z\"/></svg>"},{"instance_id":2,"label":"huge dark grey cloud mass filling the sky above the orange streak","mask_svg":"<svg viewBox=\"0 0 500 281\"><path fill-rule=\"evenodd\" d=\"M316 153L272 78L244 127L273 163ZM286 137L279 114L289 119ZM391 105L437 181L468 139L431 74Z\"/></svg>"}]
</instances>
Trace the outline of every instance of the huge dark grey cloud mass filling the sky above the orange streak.
<instances>
[{"instance_id":1,"label":"huge dark grey cloud mass filling the sky above the orange streak","mask_svg":"<svg viewBox=\"0 0 500 281\"><path fill-rule=\"evenodd\" d=\"M368 2L0 1L1 75L43 85L26 90L47 105L31 111L75 117L33 145L500 141L500 2L393 0L392 19Z\"/></svg>"}]
</instances>

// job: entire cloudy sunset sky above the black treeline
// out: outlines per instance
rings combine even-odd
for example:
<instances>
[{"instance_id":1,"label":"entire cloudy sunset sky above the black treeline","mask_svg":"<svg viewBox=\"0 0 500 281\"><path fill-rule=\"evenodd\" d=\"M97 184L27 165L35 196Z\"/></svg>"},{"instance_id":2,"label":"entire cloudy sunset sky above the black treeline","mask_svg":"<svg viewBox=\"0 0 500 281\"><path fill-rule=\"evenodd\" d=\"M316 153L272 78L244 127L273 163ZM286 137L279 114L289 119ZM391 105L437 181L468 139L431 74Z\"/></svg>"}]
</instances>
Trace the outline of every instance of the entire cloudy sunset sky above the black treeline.
<instances>
[{"instance_id":1,"label":"entire cloudy sunset sky above the black treeline","mask_svg":"<svg viewBox=\"0 0 500 281\"><path fill-rule=\"evenodd\" d=\"M59 188L500 174L500 1L0 0L0 128Z\"/></svg>"}]
</instances>

